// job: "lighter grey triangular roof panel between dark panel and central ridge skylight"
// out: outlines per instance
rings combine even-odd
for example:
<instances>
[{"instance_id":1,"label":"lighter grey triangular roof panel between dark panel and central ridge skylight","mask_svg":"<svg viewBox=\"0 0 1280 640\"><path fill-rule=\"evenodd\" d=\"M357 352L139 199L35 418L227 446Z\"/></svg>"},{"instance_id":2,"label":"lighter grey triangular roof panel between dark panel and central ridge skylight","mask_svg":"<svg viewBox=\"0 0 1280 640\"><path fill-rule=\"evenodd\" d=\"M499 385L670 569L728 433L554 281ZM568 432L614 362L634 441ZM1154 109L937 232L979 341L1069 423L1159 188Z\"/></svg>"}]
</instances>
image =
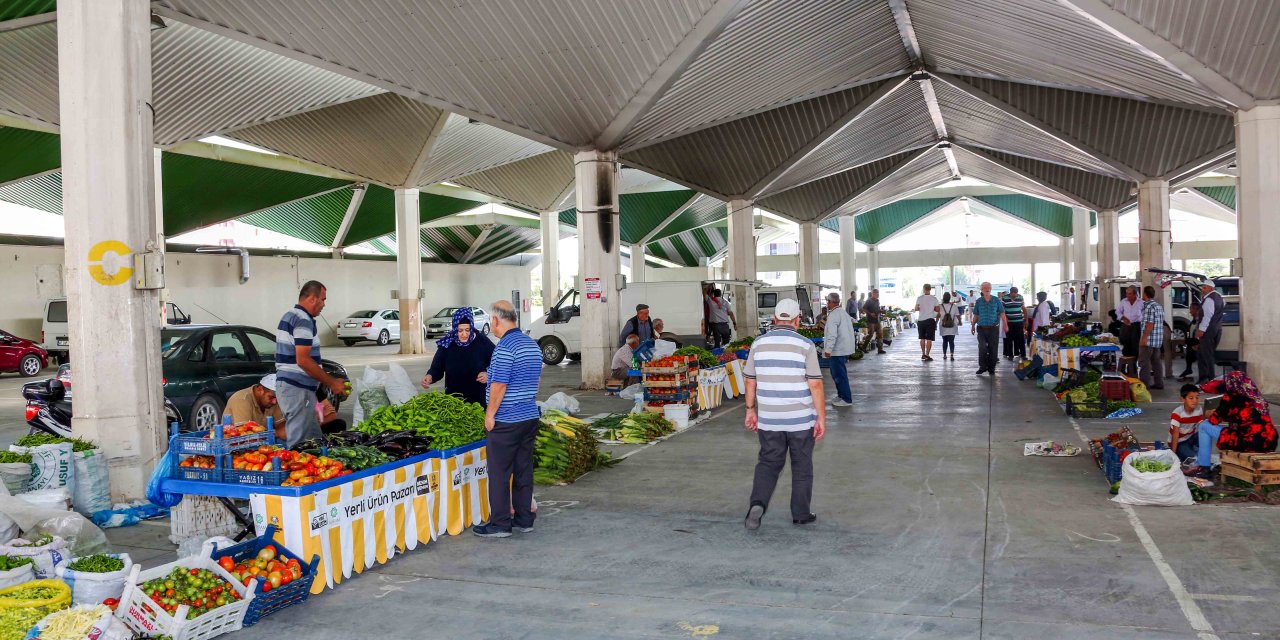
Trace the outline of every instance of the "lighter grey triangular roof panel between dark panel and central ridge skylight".
<instances>
[{"instance_id":1,"label":"lighter grey triangular roof panel between dark panel and central ridge skylight","mask_svg":"<svg viewBox=\"0 0 1280 640\"><path fill-rule=\"evenodd\" d=\"M908 82L782 175L771 192L936 141L924 93L918 83Z\"/></svg>"}]
</instances>

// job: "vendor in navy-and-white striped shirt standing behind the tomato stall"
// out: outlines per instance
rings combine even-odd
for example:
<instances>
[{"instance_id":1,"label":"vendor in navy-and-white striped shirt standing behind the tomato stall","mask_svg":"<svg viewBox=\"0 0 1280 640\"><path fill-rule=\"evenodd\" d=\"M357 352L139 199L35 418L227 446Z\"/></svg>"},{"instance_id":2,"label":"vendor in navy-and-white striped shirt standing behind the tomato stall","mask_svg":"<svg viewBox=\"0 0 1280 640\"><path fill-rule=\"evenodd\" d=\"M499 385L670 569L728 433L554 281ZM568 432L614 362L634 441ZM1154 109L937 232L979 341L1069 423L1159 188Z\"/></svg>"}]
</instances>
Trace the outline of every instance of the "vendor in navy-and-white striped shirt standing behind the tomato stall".
<instances>
[{"instance_id":1,"label":"vendor in navy-and-white striped shirt standing behind the tomato stall","mask_svg":"<svg viewBox=\"0 0 1280 640\"><path fill-rule=\"evenodd\" d=\"M285 447L321 438L316 416L316 389L323 384L333 396L347 392L346 383L320 367L320 339L316 319L324 311L328 291L308 280L298 293L298 303L284 312L275 326L275 398L284 412Z\"/></svg>"}]
</instances>

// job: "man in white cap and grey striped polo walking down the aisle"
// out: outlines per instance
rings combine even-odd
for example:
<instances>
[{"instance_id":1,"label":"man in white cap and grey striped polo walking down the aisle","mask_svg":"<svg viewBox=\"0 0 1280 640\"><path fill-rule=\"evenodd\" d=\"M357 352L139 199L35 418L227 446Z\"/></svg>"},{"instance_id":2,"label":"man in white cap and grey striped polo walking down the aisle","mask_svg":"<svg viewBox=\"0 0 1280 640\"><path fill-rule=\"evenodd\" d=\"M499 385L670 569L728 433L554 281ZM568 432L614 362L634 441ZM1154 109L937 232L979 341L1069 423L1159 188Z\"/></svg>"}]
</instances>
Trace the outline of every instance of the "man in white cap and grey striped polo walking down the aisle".
<instances>
[{"instance_id":1,"label":"man in white cap and grey striped polo walking down the aisle","mask_svg":"<svg viewBox=\"0 0 1280 640\"><path fill-rule=\"evenodd\" d=\"M826 394L818 348L796 333L800 303L787 298L773 310L773 329L751 343L746 357L746 428L760 438L746 529L755 531L769 508L778 475L791 454L791 522L808 525L813 497L813 444L827 433Z\"/></svg>"}]
</instances>

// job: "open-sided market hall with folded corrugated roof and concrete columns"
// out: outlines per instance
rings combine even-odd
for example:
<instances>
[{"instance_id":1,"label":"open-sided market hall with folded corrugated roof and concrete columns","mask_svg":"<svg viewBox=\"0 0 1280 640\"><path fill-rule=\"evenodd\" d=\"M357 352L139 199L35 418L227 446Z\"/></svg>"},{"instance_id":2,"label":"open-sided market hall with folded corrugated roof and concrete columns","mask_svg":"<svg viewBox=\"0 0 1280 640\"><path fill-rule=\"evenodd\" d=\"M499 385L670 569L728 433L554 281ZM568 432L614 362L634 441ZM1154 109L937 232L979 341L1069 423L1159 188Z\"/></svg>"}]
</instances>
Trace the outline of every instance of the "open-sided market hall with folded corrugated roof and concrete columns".
<instances>
[{"instance_id":1,"label":"open-sided market hall with folded corrugated roof and concrete columns","mask_svg":"<svg viewBox=\"0 0 1280 640\"><path fill-rule=\"evenodd\" d=\"M463 637L1276 636L1276 458L1219 435L1204 474L1155 468L1203 329L1224 434L1280 392L1277 33L1267 0L0 1L0 329L56 383L0 380L29 470L4 554L35 561L0 605L119 600L92 623L174 637L421 635L402 611ZM225 399L292 365L311 280L328 311L288 340L352 429L319 454L229 435ZM964 314L957 358L922 356L919 285L983 282L1048 292L1029 358L974 375ZM1120 378L1130 285L1169 324L1164 389ZM713 288L731 348L641 346L640 384L611 380L637 305L698 347ZM856 352L822 352L819 301L873 289ZM746 531L749 339L792 300L852 406L824 410L817 520L787 521L783 472ZM493 416L419 384L471 348L461 308L545 362L527 534L467 532ZM44 517L59 500L84 517ZM248 535L229 568L175 554L210 522ZM105 552L141 570L119 594L67 580ZM237 596L157 602L174 567Z\"/></svg>"}]
</instances>

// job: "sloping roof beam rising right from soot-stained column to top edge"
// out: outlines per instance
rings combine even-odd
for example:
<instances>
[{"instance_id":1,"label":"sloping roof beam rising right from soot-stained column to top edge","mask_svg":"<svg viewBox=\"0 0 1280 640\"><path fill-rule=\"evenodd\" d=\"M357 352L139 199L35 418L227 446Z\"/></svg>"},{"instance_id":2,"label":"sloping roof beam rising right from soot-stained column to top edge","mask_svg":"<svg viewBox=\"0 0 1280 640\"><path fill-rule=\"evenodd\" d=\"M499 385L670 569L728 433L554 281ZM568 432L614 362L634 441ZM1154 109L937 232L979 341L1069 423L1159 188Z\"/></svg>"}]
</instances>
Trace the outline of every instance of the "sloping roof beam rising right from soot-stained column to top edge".
<instances>
[{"instance_id":1,"label":"sloping roof beam rising right from soot-stained column to top edge","mask_svg":"<svg viewBox=\"0 0 1280 640\"><path fill-rule=\"evenodd\" d=\"M613 120L595 138L595 148L613 150L631 131L631 127L671 88L671 84L685 73L694 60L707 50L707 46L724 31L724 27L737 17L737 13L746 4L746 0L717 0L710 10L703 14L698 24L685 33L684 40L667 56L662 64L654 69L649 79L640 87L626 106L613 116Z\"/></svg>"}]
</instances>

